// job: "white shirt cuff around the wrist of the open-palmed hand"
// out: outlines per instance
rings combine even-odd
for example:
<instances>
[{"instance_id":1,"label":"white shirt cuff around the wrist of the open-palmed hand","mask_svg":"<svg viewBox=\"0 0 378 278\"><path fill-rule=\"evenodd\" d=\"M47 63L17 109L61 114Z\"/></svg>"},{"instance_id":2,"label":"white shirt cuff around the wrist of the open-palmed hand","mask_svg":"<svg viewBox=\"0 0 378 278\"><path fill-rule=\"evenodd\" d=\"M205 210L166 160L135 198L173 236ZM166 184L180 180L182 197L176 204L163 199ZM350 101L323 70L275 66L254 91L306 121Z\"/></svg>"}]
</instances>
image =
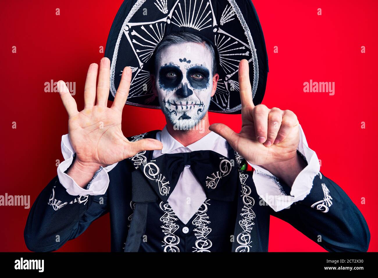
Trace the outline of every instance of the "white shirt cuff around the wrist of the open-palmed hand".
<instances>
[{"instance_id":1,"label":"white shirt cuff around the wrist of the open-palmed hand","mask_svg":"<svg viewBox=\"0 0 378 278\"><path fill-rule=\"evenodd\" d=\"M100 167L98 171L96 171L96 173L93 175L93 178L88 183L88 185L85 186L85 188L82 188L77 185L77 183L69 175L65 173L65 171L71 166L75 154L68 134L62 136L60 147L62 149L62 155L65 160L59 164L57 168L57 174L60 184L64 186L67 193L73 196L105 194L109 186L108 172L111 171L118 162L104 168Z\"/></svg>"}]
</instances>

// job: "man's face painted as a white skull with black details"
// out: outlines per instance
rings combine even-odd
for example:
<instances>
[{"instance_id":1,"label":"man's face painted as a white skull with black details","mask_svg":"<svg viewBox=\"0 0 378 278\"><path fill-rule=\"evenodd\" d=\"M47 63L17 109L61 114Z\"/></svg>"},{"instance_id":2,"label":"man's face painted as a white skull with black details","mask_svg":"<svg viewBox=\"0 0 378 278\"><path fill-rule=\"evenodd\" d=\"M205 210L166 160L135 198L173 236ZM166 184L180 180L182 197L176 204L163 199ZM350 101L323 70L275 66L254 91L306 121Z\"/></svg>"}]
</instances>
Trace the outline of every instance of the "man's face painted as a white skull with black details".
<instances>
[{"instance_id":1,"label":"man's face painted as a white skull with black details","mask_svg":"<svg viewBox=\"0 0 378 278\"><path fill-rule=\"evenodd\" d=\"M163 113L173 125L195 126L209 109L212 57L205 45L164 47L156 57L155 85Z\"/></svg>"}]
</instances>

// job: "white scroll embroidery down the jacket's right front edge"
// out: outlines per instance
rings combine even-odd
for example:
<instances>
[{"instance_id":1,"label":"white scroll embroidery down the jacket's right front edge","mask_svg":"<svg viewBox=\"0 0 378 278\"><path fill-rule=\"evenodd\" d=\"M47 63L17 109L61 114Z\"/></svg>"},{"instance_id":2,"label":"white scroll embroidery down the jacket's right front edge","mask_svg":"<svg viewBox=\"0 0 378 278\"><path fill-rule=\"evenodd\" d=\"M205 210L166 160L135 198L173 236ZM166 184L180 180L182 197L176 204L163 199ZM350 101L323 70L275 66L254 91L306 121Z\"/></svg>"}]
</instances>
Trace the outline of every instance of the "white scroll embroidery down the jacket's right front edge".
<instances>
[{"instance_id":1,"label":"white scroll embroidery down the jacket's right front edge","mask_svg":"<svg viewBox=\"0 0 378 278\"><path fill-rule=\"evenodd\" d=\"M240 159L236 158L236 161L242 161L243 157L238 154L238 152L235 151L235 157L241 157ZM241 190L241 197L243 201L243 208L240 213L242 216L242 220L239 221L240 227L242 227L243 231L242 233L239 233L236 237L236 241L238 244L240 244L238 247L236 247L235 252L249 252L249 248L251 246L251 231L253 228L253 225L255 224L253 222L253 219L256 217L256 214L252 210L253 205L255 204L255 200L253 199L251 195L252 191L251 188L246 185L246 180L248 179L248 175L244 174L242 171L239 171L239 177L240 177L240 183L242 184L242 190Z\"/></svg>"}]
</instances>

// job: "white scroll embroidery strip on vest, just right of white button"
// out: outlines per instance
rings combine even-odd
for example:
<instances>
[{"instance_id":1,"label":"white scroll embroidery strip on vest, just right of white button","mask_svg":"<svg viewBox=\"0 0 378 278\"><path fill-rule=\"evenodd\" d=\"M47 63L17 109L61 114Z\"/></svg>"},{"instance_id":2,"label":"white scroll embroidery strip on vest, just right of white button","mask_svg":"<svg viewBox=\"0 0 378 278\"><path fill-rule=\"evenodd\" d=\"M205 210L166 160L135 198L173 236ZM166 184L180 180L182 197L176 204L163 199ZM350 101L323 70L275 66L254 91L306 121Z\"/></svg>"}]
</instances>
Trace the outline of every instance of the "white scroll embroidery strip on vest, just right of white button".
<instances>
[{"instance_id":1,"label":"white scroll embroidery strip on vest, just right of white button","mask_svg":"<svg viewBox=\"0 0 378 278\"><path fill-rule=\"evenodd\" d=\"M211 252L209 248L212 246L212 242L208 239L209 233L211 233L211 228L208 227L208 224L211 223L208 219L209 216L206 214L208 211L208 205L210 199L206 200L198 211L195 213L196 216L192 221L192 224L195 225L194 235L197 240L195 241L195 247L193 252Z\"/></svg>"}]
</instances>

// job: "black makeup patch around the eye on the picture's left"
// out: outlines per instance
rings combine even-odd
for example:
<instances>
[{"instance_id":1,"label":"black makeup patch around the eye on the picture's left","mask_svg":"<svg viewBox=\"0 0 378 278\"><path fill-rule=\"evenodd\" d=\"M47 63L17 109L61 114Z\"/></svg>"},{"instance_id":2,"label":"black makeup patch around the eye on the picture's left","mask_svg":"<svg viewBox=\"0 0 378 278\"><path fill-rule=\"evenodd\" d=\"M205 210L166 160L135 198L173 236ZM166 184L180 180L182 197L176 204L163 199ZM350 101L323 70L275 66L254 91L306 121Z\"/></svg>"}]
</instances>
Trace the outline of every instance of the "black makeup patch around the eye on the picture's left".
<instances>
[{"instance_id":1,"label":"black makeup patch around the eye on the picture's left","mask_svg":"<svg viewBox=\"0 0 378 278\"><path fill-rule=\"evenodd\" d=\"M159 86L160 89L169 91L174 90L181 84L183 73L180 67L173 63L165 64L159 70Z\"/></svg>"}]
</instances>

